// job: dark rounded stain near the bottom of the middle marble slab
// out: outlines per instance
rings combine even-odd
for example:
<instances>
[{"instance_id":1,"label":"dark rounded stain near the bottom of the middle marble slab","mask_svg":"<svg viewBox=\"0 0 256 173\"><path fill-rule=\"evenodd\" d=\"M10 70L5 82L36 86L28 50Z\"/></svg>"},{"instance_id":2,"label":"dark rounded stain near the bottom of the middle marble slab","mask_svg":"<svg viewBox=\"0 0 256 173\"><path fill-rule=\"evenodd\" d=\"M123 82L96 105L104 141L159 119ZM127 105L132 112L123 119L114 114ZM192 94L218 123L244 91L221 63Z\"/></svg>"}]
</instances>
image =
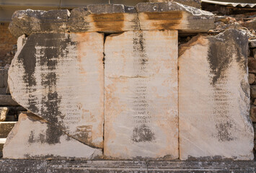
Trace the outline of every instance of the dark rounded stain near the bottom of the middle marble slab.
<instances>
[{"instance_id":1,"label":"dark rounded stain near the bottom of the middle marble slab","mask_svg":"<svg viewBox=\"0 0 256 173\"><path fill-rule=\"evenodd\" d=\"M150 142L154 139L154 133L147 125L143 124L133 129L133 136L131 137L133 142Z\"/></svg>"}]
</instances>

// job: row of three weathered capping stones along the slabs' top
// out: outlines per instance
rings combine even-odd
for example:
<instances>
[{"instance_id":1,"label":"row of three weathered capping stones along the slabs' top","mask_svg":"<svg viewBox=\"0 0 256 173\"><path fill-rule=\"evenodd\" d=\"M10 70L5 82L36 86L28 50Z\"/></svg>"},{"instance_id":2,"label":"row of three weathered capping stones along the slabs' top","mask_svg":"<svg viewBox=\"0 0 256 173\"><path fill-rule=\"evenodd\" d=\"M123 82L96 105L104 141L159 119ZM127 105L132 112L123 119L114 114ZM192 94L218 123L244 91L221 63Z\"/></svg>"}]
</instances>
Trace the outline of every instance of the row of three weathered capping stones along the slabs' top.
<instances>
[{"instance_id":1,"label":"row of three weathered capping stones along the slabs' top","mask_svg":"<svg viewBox=\"0 0 256 173\"><path fill-rule=\"evenodd\" d=\"M42 32L123 32L128 30L180 30L208 32L214 15L176 2L94 4L76 8L19 10L14 12L9 30L12 35Z\"/></svg>"}]
</instances>

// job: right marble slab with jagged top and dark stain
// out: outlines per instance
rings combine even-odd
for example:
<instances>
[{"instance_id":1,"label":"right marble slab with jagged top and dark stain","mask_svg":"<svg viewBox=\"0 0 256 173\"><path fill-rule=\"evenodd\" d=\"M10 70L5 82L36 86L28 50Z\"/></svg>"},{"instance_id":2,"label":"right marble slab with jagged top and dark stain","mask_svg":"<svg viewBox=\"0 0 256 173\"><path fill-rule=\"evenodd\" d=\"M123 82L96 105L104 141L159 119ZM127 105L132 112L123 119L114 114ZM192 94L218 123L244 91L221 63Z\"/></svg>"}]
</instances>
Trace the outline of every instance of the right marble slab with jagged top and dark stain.
<instances>
[{"instance_id":1,"label":"right marble slab with jagged top and dark stain","mask_svg":"<svg viewBox=\"0 0 256 173\"><path fill-rule=\"evenodd\" d=\"M245 32L199 35L180 47L180 159L253 159Z\"/></svg>"}]
</instances>

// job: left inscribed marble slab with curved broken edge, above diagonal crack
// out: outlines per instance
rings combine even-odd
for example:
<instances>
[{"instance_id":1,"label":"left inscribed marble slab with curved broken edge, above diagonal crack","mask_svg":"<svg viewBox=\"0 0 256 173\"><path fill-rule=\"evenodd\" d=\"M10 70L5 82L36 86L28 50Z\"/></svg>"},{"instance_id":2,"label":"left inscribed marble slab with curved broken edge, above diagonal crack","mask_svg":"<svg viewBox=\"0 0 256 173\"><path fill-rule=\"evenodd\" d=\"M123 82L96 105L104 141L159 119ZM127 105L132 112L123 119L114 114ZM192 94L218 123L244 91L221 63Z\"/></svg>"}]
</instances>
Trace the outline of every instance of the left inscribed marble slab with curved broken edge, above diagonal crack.
<instances>
[{"instance_id":1,"label":"left inscribed marble slab with curved broken edge, above diagonal crack","mask_svg":"<svg viewBox=\"0 0 256 173\"><path fill-rule=\"evenodd\" d=\"M30 35L18 46L8 79L22 107L98 148L103 146L103 41L97 32Z\"/></svg>"}]
</instances>

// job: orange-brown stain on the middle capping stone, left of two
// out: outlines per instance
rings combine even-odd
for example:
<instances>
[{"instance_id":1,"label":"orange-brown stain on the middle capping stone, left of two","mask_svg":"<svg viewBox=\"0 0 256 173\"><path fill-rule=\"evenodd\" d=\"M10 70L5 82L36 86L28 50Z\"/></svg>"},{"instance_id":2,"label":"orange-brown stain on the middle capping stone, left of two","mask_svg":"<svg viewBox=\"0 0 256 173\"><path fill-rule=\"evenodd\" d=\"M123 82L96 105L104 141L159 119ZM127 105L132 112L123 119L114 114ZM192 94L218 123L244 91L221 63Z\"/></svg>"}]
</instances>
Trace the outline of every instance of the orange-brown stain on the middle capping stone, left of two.
<instances>
[{"instance_id":1,"label":"orange-brown stain on the middle capping stone, left of two","mask_svg":"<svg viewBox=\"0 0 256 173\"><path fill-rule=\"evenodd\" d=\"M124 14L112 13L112 14L91 14L95 27L98 31L122 31Z\"/></svg>"}]
</instances>

